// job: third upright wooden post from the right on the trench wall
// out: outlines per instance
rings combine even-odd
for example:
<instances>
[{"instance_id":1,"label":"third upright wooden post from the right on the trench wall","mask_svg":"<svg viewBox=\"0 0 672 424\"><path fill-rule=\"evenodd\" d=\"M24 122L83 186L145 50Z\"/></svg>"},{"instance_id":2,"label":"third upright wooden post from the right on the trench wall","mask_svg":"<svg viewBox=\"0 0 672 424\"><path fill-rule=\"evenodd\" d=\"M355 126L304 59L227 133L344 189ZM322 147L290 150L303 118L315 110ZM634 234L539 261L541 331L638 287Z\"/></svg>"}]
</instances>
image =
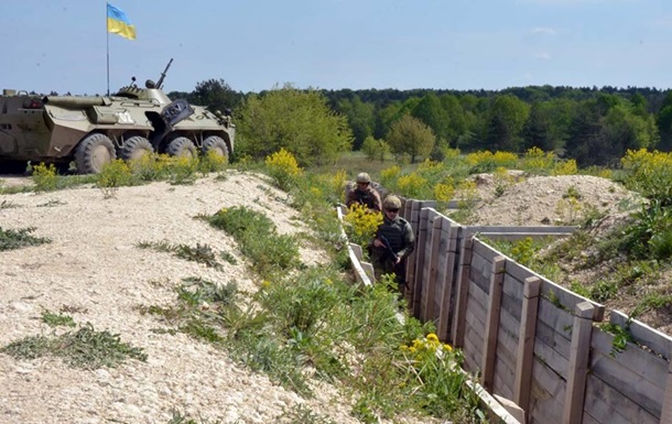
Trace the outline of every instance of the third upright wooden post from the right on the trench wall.
<instances>
[{"instance_id":1,"label":"third upright wooden post from the right on the trench wall","mask_svg":"<svg viewBox=\"0 0 672 424\"><path fill-rule=\"evenodd\" d=\"M486 390L492 390L492 377L495 374L495 359L497 354L497 336L499 334L499 309L501 307L501 290L507 259L495 257L490 272L490 296L486 317L486 334L483 349L483 361L480 369L480 384Z\"/></svg>"}]
</instances>

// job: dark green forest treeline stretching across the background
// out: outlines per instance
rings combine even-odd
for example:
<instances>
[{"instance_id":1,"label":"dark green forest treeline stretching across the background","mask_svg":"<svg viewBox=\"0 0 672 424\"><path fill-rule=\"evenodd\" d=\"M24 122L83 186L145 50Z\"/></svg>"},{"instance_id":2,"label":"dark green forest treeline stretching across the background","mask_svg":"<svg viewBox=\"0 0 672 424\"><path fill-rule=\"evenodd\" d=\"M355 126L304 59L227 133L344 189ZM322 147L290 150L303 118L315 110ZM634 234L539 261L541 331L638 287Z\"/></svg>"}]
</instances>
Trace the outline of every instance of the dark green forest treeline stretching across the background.
<instances>
[{"instance_id":1,"label":"dark green forest treeline stretching across the background","mask_svg":"<svg viewBox=\"0 0 672 424\"><path fill-rule=\"evenodd\" d=\"M286 90L285 85L280 90ZM290 87L291 89L291 87ZM199 83L182 95L214 109L232 108L236 117L249 98L270 91L242 94L224 80ZM305 90L304 90L305 91ZM413 138L433 140L431 153L446 148L464 152L489 150L525 152L531 148L574 159L582 167L618 163L628 150L672 150L672 91L628 87L529 86L505 90L365 89L317 90L332 111L346 118L353 148ZM288 117L288 119L291 119ZM400 128L401 127L401 128ZM403 130L410 129L404 132ZM368 142L367 142L368 141ZM400 140L391 152L409 153L412 160L429 155L402 151ZM411 141L413 144L413 141ZM426 144L426 143L425 143Z\"/></svg>"}]
</instances>

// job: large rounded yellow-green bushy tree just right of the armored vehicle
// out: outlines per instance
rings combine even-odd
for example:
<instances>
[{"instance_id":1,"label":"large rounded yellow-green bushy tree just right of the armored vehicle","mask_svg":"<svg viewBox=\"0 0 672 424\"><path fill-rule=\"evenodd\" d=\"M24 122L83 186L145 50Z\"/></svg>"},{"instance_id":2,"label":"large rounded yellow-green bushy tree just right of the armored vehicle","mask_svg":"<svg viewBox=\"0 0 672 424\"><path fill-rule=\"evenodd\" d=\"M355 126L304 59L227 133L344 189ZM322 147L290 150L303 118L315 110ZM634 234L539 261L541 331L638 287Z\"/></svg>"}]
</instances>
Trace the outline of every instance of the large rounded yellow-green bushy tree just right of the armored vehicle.
<instances>
[{"instance_id":1,"label":"large rounded yellow-green bushy tree just right of the armored vehicle","mask_svg":"<svg viewBox=\"0 0 672 424\"><path fill-rule=\"evenodd\" d=\"M251 95L239 109L239 154L261 159L284 148L302 166L335 160L349 151L353 133L345 117L333 112L324 95L290 84Z\"/></svg>"}]
</instances>

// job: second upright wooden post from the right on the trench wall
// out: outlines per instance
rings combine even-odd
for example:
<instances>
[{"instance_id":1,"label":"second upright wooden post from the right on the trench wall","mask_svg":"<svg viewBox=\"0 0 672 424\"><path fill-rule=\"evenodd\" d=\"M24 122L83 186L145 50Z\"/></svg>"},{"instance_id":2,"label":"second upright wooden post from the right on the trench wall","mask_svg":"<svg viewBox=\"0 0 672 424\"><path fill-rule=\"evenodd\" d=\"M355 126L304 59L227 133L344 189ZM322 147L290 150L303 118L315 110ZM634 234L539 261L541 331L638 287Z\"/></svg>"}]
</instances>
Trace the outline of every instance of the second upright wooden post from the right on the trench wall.
<instances>
[{"instance_id":1,"label":"second upright wooden post from the right on the trench wall","mask_svg":"<svg viewBox=\"0 0 672 424\"><path fill-rule=\"evenodd\" d=\"M541 281L525 280L522 301L522 322L518 336L518 363L516 365L516 395L513 401L524 411L530 411L530 389L534 354L536 309L539 307Z\"/></svg>"}]
</instances>

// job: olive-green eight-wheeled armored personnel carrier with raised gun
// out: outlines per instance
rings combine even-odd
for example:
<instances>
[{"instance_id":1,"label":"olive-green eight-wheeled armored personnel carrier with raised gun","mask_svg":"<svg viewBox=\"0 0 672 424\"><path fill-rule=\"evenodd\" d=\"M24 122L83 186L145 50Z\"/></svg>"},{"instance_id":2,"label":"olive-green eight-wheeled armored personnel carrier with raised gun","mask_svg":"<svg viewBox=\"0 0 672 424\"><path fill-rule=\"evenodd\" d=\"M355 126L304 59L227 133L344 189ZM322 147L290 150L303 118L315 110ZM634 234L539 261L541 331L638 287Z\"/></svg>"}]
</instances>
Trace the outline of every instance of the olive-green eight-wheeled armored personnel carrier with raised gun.
<instances>
[{"instance_id":1,"label":"olive-green eight-wheeled armored personnel carrier with raised gun","mask_svg":"<svg viewBox=\"0 0 672 424\"><path fill-rule=\"evenodd\" d=\"M74 162L80 174L98 173L117 157L150 152L196 156L234 151L230 111L172 101L162 85L139 88L136 78L111 96L46 96L3 90L0 96L0 162Z\"/></svg>"}]
</instances>

